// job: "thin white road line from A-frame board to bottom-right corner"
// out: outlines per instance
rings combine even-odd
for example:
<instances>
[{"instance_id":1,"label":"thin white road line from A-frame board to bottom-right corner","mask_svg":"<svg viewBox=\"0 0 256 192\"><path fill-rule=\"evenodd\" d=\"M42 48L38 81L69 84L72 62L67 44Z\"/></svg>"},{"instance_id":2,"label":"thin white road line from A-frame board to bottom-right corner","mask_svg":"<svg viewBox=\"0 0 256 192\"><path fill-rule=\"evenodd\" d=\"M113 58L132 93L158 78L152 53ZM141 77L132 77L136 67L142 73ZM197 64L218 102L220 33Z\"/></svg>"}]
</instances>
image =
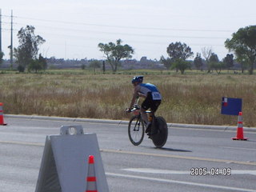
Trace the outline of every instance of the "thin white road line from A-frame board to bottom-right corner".
<instances>
[{"instance_id":1,"label":"thin white road line from A-frame board to bottom-right corner","mask_svg":"<svg viewBox=\"0 0 256 192\"><path fill-rule=\"evenodd\" d=\"M198 182L182 182L182 181L176 181L173 179L148 178L148 177L136 176L136 175L130 175L130 174L106 173L106 175L112 176L112 177L122 177L122 178L137 178L137 179L149 180L154 182L168 182L168 183L176 183L176 184L189 185L189 186L210 187L210 188L221 189L221 190L238 190L238 191L245 191L245 192L256 192L256 190L250 190L250 189L244 189L244 188L238 188L238 187L232 187L232 186L215 186L215 185L198 183Z\"/></svg>"}]
</instances>

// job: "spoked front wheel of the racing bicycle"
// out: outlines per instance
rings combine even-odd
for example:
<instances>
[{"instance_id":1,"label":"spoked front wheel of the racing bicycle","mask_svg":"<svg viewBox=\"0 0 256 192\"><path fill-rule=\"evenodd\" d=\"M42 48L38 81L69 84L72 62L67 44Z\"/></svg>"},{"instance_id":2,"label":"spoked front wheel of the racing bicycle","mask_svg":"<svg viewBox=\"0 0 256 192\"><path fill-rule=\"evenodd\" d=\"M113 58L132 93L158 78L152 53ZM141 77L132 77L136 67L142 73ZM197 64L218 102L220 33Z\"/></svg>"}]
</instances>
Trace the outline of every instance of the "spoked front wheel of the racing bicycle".
<instances>
[{"instance_id":1,"label":"spoked front wheel of the racing bicycle","mask_svg":"<svg viewBox=\"0 0 256 192\"><path fill-rule=\"evenodd\" d=\"M142 122L142 118L140 115L136 115L130 118L128 135L130 138L130 142L134 144L134 146L138 146L142 143L144 138L144 130L144 123Z\"/></svg>"}]
</instances>

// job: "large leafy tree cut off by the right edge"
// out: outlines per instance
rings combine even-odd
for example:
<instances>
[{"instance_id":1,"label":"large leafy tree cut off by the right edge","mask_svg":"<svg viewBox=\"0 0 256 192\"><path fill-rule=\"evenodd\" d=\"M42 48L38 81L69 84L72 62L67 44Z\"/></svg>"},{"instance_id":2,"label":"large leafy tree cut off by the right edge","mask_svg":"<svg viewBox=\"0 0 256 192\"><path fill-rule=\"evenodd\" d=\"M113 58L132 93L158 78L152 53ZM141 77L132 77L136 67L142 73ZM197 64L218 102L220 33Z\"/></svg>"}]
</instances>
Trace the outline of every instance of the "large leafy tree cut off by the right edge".
<instances>
[{"instance_id":1,"label":"large leafy tree cut off by the right edge","mask_svg":"<svg viewBox=\"0 0 256 192\"><path fill-rule=\"evenodd\" d=\"M238 60L247 61L249 65L249 74L254 73L254 64L256 62L256 26L246 26L240 28L232 34L231 39L226 39L226 48L234 51Z\"/></svg>"}]
</instances>

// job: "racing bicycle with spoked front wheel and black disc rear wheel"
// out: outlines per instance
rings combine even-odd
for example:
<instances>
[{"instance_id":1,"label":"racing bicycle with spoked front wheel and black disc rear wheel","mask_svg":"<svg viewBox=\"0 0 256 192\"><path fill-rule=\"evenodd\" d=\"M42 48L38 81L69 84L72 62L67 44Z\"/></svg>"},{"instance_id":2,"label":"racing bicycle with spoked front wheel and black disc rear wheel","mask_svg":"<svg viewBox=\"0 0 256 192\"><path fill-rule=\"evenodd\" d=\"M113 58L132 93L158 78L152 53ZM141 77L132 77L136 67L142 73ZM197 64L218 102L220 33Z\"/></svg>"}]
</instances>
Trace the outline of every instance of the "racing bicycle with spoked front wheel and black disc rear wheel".
<instances>
[{"instance_id":1,"label":"racing bicycle with spoked front wheel and black disc rear wheel","mask_svg":"<svg viewBox=\"0 0 256 192\"><path fill-rule=\"evenodd\" d=\"M134 146L138 146L142 143L144 134L145 134L145 122L142 120L142 114L140 112L140 106L138 102L134 105L134 108L130 110L134 113L134 116L130 118L128 125L128 135L130 142ZM150 114L150 110L146 110L146 114ZM168 138L168 127L166 120L162 117L155 117L154 113L152 114L151 127L148 129L149 138L154 143L154 146L161 148L166 144Z\"/></svg>"}]
</instances>

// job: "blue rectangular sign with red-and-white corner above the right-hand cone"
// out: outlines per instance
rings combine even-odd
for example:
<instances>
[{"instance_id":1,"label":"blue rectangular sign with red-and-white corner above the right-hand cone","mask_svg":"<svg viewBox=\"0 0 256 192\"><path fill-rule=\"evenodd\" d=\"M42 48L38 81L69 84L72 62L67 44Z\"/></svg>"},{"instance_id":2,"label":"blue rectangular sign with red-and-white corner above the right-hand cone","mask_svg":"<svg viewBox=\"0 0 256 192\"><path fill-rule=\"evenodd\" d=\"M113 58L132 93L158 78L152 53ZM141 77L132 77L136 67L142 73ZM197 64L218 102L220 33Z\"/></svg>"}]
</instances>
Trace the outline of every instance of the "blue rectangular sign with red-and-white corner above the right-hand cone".
<instances>
[{"instance_id":1,"label":"blue rectangular sign with red-and-white corner above the right-hand cone","mask_svg":"<svg viewBox=\"0 0 256 192\"><path fill-rule=\"evenodd\" d=\"M242 112L242 98L222 98L221 114L238 115Z\"/></svg>"}]
</instances>

